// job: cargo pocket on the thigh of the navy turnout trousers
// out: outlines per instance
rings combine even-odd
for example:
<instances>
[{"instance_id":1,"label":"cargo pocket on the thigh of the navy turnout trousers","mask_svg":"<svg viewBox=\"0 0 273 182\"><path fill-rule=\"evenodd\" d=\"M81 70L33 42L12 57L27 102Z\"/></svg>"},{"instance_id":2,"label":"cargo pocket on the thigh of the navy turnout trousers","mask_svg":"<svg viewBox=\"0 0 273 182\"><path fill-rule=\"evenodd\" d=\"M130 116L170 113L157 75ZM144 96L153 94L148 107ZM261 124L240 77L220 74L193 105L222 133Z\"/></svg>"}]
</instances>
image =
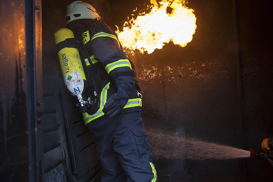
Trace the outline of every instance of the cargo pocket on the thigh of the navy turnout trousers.
<instances>
[{"instance_id":1,"label":"cargo pocket on the thigh of the navy turnout trousers","mask_svg":"<svg viewBox=\"0 0 273 182\"><path fill-rule=\"evenodd\" d=\"M136 140L136 147L138 149L138 157L140 162L151 162L153 158L153 152L145 128L135 128L131 130Z\"/></svg>"}]
</instances>

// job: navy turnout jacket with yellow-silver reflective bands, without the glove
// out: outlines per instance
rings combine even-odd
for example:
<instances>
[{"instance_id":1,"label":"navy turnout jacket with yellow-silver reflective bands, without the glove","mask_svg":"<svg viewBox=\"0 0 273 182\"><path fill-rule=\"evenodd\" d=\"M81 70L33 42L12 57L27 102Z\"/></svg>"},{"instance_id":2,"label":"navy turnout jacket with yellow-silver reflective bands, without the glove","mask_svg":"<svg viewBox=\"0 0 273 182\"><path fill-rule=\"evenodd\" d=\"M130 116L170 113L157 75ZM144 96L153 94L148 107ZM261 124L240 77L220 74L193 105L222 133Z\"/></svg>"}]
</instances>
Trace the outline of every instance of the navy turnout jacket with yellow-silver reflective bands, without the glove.
<instances>
[{"instance_id":1,"label":"navy turnout jacket with yellow-silver reflective bands, without the glove","mask_svg":"<svg viewBox=\"0 0 273 182\"><path fill-rule=\"evenodd\" d=\"M89 75L96 79L97 70L99 70L99 77L102 80L102 84L96 86L97 94L99 94L98 110L96 113L83 113L84 123L93 125L105 118L103 107L109 97L117 92L115 80L123 77L126 81L126 77L135 77L136 72L133 62L123 52L122 45L110 25L93 20L83 27L81 34L83 45L90 58L89 60L85 58ZM122 113L139 111L141 106L141 98L138 97L138 91L134 88L129 94L129 100L123 107Z\"/></svg>"}]
</instances>

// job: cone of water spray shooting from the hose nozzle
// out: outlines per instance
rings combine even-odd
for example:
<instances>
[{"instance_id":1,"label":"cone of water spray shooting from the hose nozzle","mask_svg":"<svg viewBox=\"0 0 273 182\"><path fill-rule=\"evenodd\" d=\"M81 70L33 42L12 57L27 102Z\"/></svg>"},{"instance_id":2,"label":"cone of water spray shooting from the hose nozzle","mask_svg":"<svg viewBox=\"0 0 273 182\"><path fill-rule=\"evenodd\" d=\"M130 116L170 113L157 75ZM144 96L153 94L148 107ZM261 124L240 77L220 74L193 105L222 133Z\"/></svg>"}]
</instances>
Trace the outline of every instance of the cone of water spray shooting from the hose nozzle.
<instances>
[{"instance_id":1,"label":"cone of water spray shooting from the hose nozzle","mask_svg":"<svg viewBox=\"0 0 273 182\"><path fill-rule=\"evenodd\" d=\"M249 157L250 152L191 136L163 130L148 130L154 158L190 160L228 160Z\"/></svg>"}]
</instances>

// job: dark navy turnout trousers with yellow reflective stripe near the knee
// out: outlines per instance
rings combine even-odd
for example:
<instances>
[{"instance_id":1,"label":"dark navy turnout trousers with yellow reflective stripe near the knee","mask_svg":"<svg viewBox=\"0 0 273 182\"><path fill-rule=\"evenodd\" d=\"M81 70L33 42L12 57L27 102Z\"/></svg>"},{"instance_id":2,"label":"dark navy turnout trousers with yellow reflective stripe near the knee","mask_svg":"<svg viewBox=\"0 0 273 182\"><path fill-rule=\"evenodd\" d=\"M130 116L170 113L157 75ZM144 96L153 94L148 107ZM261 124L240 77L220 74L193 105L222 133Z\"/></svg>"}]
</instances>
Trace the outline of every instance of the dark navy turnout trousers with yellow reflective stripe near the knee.
<instances>
[{"instance_id":1,"label":"dark navy turnout trousers with yellow reflective stripe near the knee","mask_svg":"<svg viewBox=\"0 0 273 182\"><path fill-rule=\"evenodd\" d=\"M157 182L153 152L140 111L87 125L103 168L102 182Z\"/></svg>"}]
</instances>

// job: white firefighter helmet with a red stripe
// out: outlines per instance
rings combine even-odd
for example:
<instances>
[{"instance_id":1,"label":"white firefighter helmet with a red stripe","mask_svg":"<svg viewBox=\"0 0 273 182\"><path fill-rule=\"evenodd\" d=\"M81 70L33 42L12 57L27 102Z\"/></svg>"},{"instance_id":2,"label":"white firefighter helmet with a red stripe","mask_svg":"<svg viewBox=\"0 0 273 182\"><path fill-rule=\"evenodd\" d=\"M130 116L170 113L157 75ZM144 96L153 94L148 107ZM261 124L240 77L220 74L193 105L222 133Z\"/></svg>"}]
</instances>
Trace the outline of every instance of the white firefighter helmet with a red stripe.
<instances>
[{"instance_id":1,"label":"white firefighter helmet with a red stripe","mask_svg":"<svg viewBox=\"0 0 273 182\"><path fill-rule=\"evenodd\" d=\"M66 10L66 24L77 19L100 19L96 9L82 1L72 2L67 6Z\"/></svg>"}]
</instances>

